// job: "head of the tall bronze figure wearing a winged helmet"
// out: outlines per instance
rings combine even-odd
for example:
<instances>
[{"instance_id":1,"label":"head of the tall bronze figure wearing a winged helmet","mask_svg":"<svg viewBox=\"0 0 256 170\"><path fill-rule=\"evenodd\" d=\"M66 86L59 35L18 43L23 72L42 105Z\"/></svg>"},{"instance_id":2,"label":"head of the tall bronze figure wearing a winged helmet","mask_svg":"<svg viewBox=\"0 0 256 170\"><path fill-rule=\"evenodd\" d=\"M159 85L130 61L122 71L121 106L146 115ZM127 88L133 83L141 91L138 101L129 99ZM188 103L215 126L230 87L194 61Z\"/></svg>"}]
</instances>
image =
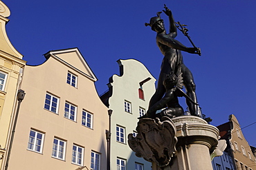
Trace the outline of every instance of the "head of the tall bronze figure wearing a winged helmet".
<instances>
[{"instance_id":1,"label":"head of the tall bronze figure wearing a winged helmet","mask_svg":"<svg viewBox=\"0 0 256 170\"><path fill-rule=\"evenodd\" d=\"M163 19L160 17L161 13L162 12L157 12L157 17L152 17L149 23L145 23L145 26L149 25L155 32L163 32L165 30L165 26L163 25Z\"/></svg>"}]
</instances>

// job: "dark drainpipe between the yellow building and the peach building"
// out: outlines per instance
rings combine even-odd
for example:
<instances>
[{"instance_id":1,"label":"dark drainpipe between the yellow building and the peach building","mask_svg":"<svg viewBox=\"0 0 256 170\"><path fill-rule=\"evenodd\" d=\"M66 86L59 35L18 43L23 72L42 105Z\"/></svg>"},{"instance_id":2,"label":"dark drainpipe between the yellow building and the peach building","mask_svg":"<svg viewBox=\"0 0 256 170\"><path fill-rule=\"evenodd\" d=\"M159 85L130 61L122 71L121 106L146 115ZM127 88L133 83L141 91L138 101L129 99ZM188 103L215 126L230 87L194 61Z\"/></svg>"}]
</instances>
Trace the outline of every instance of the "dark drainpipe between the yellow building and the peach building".
<instances>
[{"instance_id":1,"label":"dark drainpipe between the yellow building and the peach building","mask_svg":"<svg viewBox=\"0 0 256 170\"><path fill-rule=\"evenodd\" d=\"M13 123L13 127L12 127L12 136L10 138L10 145L9 145L8 154L7 154L7 158L6 158L6 168L5 168L5 170L8 169L9 159L10 159L10 151L12 149L12 142L13 142L13 138L15 136L15 128L16 128L17 119L18 119L18 115L19 115L19 107L21 105L21 101L24 99L24 96L25 96L24 90L19 89L18 94L17 94L18 106L17 106L16 115L15 115L15 122Z\"/></svg>"}]
</instances>

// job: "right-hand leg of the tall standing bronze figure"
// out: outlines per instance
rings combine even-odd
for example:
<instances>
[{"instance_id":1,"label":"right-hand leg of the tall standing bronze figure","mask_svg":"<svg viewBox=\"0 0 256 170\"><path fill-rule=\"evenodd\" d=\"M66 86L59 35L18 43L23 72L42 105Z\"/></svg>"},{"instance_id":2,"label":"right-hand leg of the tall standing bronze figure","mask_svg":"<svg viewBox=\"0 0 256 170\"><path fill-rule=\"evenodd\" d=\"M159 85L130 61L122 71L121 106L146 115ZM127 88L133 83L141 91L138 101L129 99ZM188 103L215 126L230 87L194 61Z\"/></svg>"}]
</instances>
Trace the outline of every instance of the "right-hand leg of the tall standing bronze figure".
<instances>
[{"instance_id":1,"label":"right-hand leg of the tall standing bronze figure","mask_svg":"<svg viewBox=\"0 0 256 170\"><path fill-rule=\"evenodd\" d=\"M186 92L188 96L194 101L194 103L197 103L196 99L196 85L194 83L194 78L192 75L192 72L186 67L185 65L182 65L181 72L183 73L183 83L186 89ZM201 116L201 111L199 111L199 106L194 105L194 103L190 102L190 100L186 100L186 103L188 105L188 108L190 109L190 114L192 116Z\"/></svg>"}]
</instances>

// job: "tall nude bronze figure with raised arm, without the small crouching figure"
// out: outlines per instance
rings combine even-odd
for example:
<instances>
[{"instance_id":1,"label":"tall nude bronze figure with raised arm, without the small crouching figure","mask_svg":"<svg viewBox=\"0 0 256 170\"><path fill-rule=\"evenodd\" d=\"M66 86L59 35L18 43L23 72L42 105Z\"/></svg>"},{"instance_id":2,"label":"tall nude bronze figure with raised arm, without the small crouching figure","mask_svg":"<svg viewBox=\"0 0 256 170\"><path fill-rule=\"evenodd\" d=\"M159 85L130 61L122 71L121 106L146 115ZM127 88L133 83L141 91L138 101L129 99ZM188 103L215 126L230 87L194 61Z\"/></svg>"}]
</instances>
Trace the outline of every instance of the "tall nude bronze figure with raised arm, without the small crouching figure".
<instances>
[{"instance_id":1,"label":"tall nude bronze figure with raised arm, without the small crouching figure","mask_svg":"<svg viewBox=\"0 0 256 170\"><path fill-rule=\"evenodd\" d=\"M166 88L164 85L165 78L170 72L174 72L176 75L182 74L183 77L183 85L186 89L186 94L190 98L186 98L186 103L188 105L190 114L192 116L201 117L201 111L199 111L199 106L196 104L196 85L194 83L194 78L192 76L192 72L186 67L183 63L183 56L181 55L181 51L189 52L191 54L199 54L201 55L201 51L197 47L185 47L182 43L174 39L177 36L177 27L174 22L174 17L172 16L172 12L166 6L164 7L165 14L169 17L170 20L170 33L167 34L163 19L161 19L161 12L157 12L157 17L152 17L149 23L145 23L145 25L151 26L152 30L154 30L156 34L156 43L164 55L161 72L158 78L158 86L156 88L155 94L152 96L149 101L149 111L145 115L145 117L152 117L154 113L150 110L152 107L160 101L165 92ZM182 26L182 25L180 25ZM185 30L186 31L186 30ZM194 44L193 44L194 45ZM179 103L178 103L179 104Z\"/></svg>"}]
</instances>

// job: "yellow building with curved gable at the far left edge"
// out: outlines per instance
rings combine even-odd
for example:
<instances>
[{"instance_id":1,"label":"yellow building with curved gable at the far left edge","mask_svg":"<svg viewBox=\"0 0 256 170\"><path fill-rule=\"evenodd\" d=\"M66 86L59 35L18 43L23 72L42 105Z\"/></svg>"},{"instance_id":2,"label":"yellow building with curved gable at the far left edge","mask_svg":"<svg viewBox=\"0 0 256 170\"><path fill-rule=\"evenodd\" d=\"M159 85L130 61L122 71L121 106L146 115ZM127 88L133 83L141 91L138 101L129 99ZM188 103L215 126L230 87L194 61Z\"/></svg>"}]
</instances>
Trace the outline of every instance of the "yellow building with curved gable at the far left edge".
<instances>
[{"instance_id":1,"label":"yellow building with curved gable at the far left edge","mask_svg":"<svg viewBox=\"0 0 256 170\"><path fill-rule=\"evenodd\" d=\"M26 61L15 50L6 34L6 23L10 16L8 7L0 1L0 169L8 151L14 105L21 74Z\"/></svg>"}]
</instances>

